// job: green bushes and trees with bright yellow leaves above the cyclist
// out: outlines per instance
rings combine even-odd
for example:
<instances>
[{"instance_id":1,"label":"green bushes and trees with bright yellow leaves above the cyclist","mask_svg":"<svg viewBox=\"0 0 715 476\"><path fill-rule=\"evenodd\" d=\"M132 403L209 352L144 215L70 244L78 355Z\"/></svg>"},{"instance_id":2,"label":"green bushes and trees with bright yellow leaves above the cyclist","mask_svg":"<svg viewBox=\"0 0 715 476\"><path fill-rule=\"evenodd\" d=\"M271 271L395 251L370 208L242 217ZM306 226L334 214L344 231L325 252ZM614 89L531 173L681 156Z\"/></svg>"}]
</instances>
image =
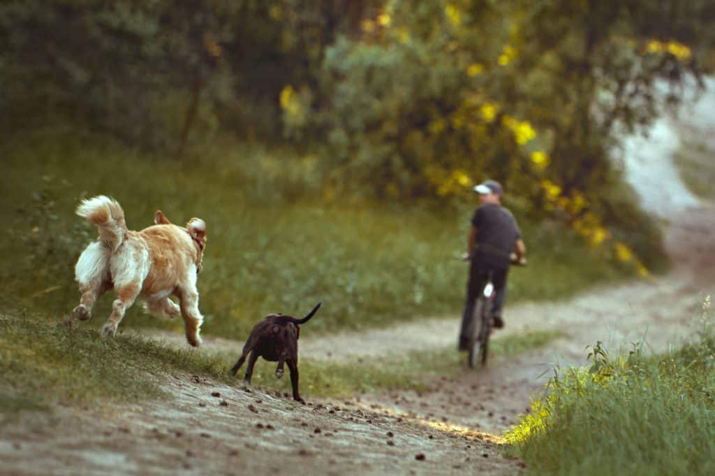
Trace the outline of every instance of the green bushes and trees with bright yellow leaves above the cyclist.
<instances>
[{"instance_id":1,"label":"green bushes and trees with bright yellow leaves above the cyclist","mask_svg":"<svg viewBox=\"0 0 715 476\"><path fill-rule=\"evenodd\" d=\"M699 76L712 8L390 1L362 36L326 51L320 88L332 101L312 123L328 139L331 183L394 199L462 196L490 176L638 273L662 268L659 231L633 226L649 218L631 197L612 198L623 186L609 156L617 134L647 126Z\"/></svg>"}]
</instances>

